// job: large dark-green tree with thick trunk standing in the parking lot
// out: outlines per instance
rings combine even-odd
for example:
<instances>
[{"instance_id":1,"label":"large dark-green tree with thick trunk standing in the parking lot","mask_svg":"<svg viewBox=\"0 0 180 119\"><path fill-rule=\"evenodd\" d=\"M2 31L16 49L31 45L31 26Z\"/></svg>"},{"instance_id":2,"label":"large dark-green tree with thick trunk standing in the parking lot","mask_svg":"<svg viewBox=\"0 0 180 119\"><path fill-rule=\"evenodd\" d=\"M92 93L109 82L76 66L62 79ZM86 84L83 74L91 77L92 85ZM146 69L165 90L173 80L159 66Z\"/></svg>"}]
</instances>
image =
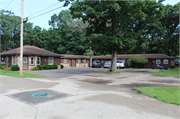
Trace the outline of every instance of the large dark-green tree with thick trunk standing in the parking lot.
<instances>
[{"instance_id":1,"label":"large dark-green tree with thick trunk standing in the parking lot","mask_svg":"<svg viewBox=\"0 0 180 119\"><path fill-rule=\"evenodd\" d=\"M156 1L148 3L158 4ZM131 29L137 20L146 19L147 14L142 10L146 7L145 1L82 1L72 4L70 10L73 18L90 24L88 34L97 34L92 38L93 49L97 48L102 54L112 53L112 72L116 72L117 51L131 48L141 36ZM154 11L156 9L151 10Z\"/></svg>"}]
</instances>

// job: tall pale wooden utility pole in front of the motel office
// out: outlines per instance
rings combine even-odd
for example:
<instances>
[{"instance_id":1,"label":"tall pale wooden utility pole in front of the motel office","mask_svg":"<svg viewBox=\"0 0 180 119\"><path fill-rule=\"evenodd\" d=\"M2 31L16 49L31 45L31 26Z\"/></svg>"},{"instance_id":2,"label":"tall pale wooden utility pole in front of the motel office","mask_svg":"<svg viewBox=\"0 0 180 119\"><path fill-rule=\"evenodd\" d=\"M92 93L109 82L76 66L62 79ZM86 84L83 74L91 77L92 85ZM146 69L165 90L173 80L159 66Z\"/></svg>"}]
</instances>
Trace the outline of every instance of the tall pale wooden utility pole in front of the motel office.
<instances>
[{"instance_id":1,"label":"tall pale wooden utility pole in front of the motel office","mask_svg":"<svg viewBox=\"0 0 180 119\"><path fill-rule=\"evenodd\" d=\"M20 75L23 75L23 14L24 14L24 0L22 0L21 3Z\"/></svg>"}]
</instances>

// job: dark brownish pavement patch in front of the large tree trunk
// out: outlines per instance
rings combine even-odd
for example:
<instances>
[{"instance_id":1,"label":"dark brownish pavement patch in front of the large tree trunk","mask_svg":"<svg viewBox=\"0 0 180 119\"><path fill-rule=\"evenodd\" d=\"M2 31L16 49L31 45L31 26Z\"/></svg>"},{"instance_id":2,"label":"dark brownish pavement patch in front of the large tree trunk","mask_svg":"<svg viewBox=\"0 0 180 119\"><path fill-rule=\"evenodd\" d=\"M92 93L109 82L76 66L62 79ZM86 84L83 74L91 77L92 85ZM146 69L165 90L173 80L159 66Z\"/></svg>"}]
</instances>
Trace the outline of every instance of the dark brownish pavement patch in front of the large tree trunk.
<instances>
[{"instance_id":1,"label":"dark brownish pavement patch in front of the large tree trunk","mask_svg":"<svg viewBox=\"0 0 180 119\"><path fill-rule=\"evenodd\" d=\"M103 79L85 79L85 80L80 80L82 82L88 82L88 83L94 83L94 84L108 84L108 83L112 83L111 80L103 80Z\"/></svg>"}]
</instances>

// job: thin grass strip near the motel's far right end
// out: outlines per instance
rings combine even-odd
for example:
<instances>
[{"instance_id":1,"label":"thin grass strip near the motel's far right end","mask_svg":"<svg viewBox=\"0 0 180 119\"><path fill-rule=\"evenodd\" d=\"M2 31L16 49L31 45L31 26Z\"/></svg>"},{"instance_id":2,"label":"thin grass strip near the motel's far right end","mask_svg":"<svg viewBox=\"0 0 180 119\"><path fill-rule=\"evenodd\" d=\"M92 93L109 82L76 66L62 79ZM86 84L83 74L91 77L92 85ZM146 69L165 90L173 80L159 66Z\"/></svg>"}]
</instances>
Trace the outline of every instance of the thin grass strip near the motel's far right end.
<instances>
[{"instance_id":1,"label":"thin grass strip near the motel's far right end","mask_svg":"<svg viewBox=\"0 0 180 119\"><path fill-rule=\"evenodd\" d=\"M168 69L168 70L153 72L153 74L180 76L179 69Z\"/></svg>"}]
</instances>

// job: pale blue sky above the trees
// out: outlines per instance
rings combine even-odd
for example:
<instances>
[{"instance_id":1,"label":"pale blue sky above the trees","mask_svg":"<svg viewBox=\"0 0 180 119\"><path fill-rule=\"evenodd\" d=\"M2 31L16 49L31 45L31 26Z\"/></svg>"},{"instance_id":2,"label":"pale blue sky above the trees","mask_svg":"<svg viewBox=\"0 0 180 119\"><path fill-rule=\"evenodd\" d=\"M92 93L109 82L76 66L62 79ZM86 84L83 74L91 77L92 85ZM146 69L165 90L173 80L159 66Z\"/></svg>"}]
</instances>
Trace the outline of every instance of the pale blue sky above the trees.
<instances>
[{"instance_id":1,"label":"pale blue sky above the trees","mask_svg":"<svg viewBox=\"0 0 180 119\"><path fill-rule=\"evenodd\" d=\"M0 9L10 10L14 12L16 16L21 17L21 1L22 0L0 0ZM165 0L162 4L167 5L175 5L177 4L178 0ZM63 6L64 2L59 2L58 0L24 0L24 17L29 18L28 22L33 23L34 26L40 26L41 28L49 29L50 26L48 21L51 20L51 16L54 14L59 14L62 10L68 10L68 7L62 7L60 9L51 11L47 14L38 16L33 18L37 15L42 13L48 12L50 10L56 9L58 7ZM8 6L9 5L9 6ZM35 14L37 13L37 14ZM32 18L32 19L31 19Z\"/></svg>"}]
</instances>

